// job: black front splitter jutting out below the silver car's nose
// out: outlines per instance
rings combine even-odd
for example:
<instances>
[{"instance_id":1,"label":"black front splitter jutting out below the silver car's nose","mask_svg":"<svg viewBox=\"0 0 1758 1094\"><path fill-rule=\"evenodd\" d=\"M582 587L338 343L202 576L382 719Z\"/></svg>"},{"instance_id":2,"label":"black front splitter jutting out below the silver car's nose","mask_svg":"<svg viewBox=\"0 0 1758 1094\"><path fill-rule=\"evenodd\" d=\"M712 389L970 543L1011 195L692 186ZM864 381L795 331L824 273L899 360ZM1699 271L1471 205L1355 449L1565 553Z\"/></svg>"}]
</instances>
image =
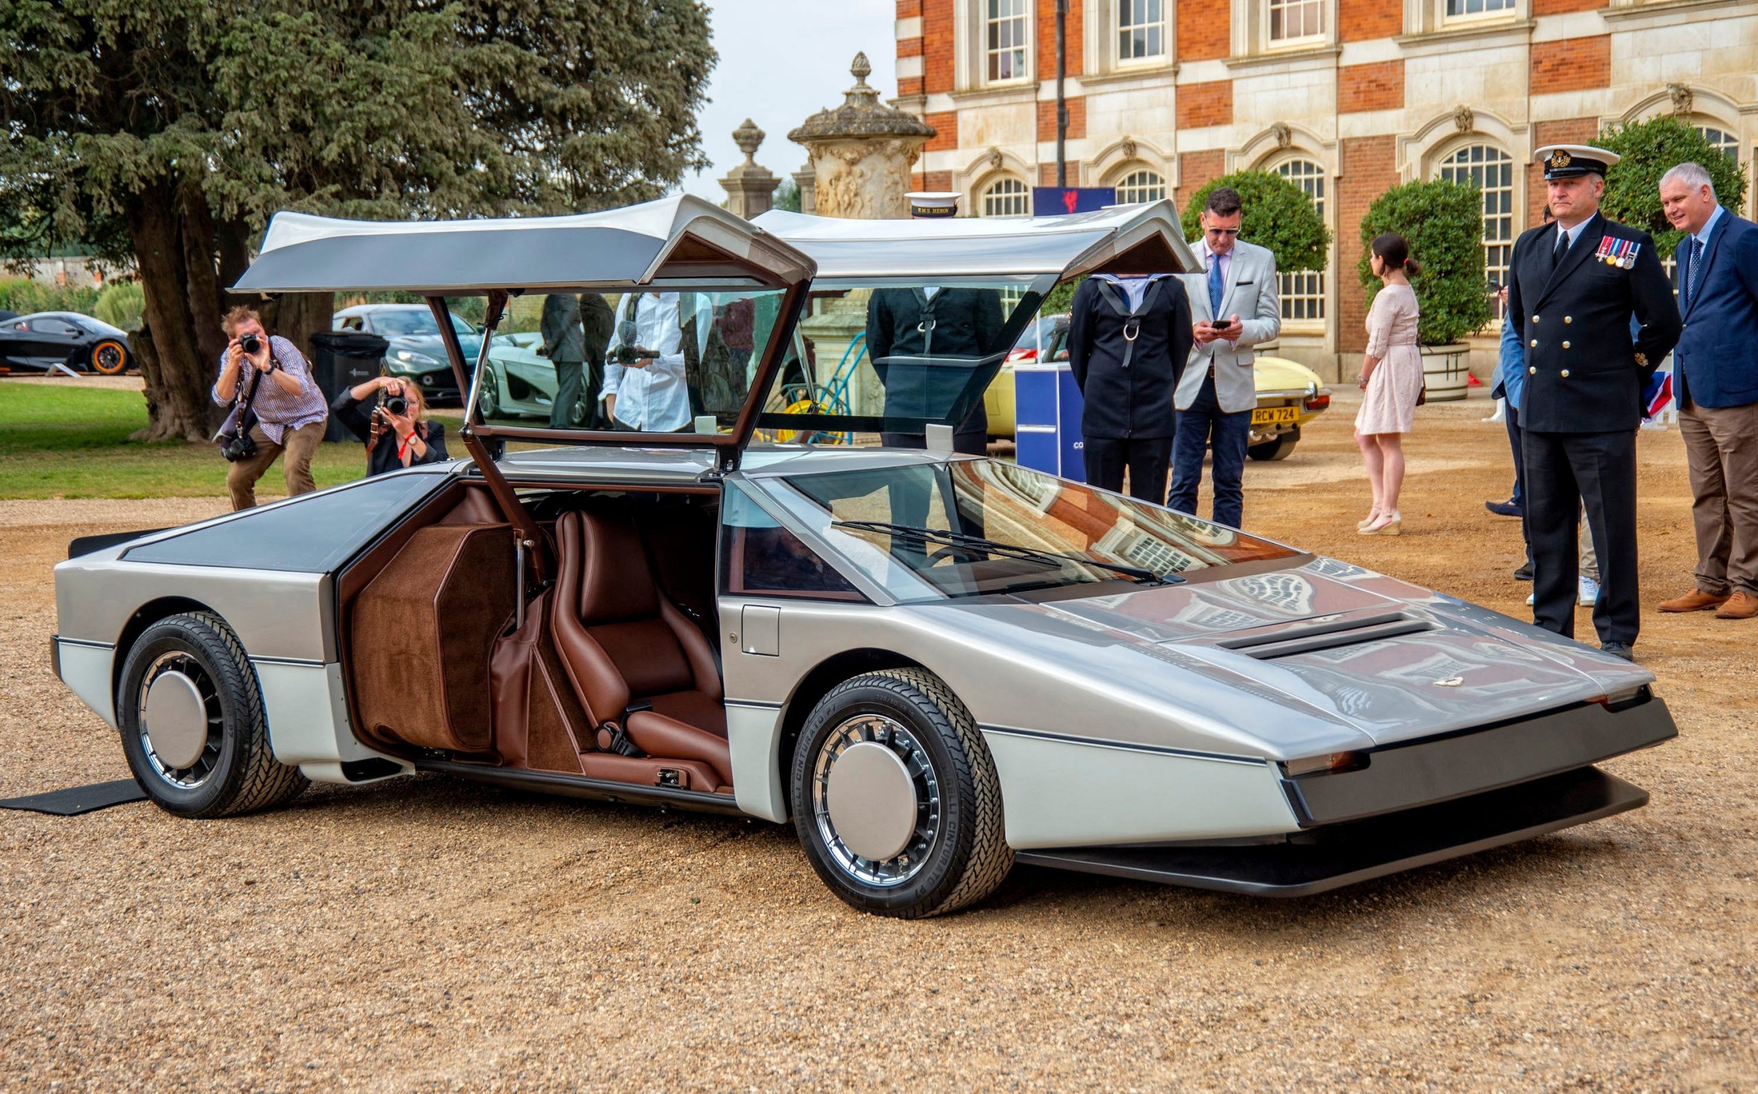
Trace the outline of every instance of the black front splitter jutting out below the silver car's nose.
<instances>
[{"instance_id":1,"label":"black front splitter jutting out below the silver car's nose","mask_svg":"<svg viewBox=\"0 0 1758 1094\"><path fill-rule=\"evenodd\" d=\"M1027 866L1162 885L1301 897L1445 862L1647 804L1647 790L1579 767L1503 790L1306 829L1248 846L1085 846L1014 852Z\"/></svg>"}]
</instances>

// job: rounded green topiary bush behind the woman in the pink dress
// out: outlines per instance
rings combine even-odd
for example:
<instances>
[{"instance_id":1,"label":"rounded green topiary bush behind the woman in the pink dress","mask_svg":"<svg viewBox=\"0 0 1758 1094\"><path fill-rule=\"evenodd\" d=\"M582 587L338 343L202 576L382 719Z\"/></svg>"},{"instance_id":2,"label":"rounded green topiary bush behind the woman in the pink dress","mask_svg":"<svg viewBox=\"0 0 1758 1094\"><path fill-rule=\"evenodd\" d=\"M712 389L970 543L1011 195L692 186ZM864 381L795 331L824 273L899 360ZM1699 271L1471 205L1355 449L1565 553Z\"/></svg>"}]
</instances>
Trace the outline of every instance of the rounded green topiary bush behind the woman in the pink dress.
<instances>
[{"instance_id":1,"label":"rounded green topiary bush behind the woman in the pink dress","mask_svg":"<svg viewBox=\"0 0 1758 1094\"><path fill-rule=\"evenodd\" d=\"M1398 232L1410 242L1420 272L1410 279L1422 320L1417 341L1445 346L1489 321L1489 281L1484 279L1484 198L1463 183L1405 183L1368 205L1361 220L1361 288L1373 306L1380 279L1369 267L1375 235Z\"/></svg>"}]
</instances>

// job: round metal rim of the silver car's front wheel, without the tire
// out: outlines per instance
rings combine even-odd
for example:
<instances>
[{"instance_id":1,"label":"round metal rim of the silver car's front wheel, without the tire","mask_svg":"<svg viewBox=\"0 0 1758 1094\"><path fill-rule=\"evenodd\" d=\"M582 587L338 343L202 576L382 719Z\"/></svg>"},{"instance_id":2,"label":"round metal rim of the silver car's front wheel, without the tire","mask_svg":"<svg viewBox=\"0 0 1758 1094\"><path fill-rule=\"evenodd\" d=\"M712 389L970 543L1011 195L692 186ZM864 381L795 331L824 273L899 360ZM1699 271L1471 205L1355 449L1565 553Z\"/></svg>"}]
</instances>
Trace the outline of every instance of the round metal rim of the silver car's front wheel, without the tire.
<instances>
[{"instance_id":1,"label":"round metal rim of the silver car's front wheel, without the tire","mask_svg":"<svg viewBox=\"0 0 1758 1094\"><path fill-rule=\"evenodd\" d=\"M941 838L941 781L921 741L884 715L856 715L825 738L812 815L837 866L890 889L928 864Z\"/></svg>"}]
</instances>

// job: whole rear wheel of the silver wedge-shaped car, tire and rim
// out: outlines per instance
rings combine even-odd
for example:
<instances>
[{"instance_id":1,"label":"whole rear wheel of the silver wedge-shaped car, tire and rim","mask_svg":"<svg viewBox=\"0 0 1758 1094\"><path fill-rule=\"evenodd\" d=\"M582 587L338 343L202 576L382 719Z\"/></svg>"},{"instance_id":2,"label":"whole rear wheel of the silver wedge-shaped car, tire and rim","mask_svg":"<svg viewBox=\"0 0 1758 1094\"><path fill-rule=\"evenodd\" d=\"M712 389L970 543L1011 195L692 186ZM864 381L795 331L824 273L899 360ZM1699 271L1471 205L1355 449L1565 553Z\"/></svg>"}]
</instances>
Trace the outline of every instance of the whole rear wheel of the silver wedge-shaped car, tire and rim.
<instances>
[{"instance_id":1,"label":"whole rear wheel of the silver wedge-shaped car, tire and rim","mask_svg":"<svg viewBox=\"0 0 1758 1094\"><path fill-rule=\"evenodd\" d=\"M156 748L158 734L148 732L149 702L155 716L167 715ZM207 611L163 618L135 639L116 688L116 725L135 781L178 817L267 810L308 785L299 767L274 759L257 671L232 629ZM172 746L179 755L171 755Z\"/></svg>"}]
</instances>

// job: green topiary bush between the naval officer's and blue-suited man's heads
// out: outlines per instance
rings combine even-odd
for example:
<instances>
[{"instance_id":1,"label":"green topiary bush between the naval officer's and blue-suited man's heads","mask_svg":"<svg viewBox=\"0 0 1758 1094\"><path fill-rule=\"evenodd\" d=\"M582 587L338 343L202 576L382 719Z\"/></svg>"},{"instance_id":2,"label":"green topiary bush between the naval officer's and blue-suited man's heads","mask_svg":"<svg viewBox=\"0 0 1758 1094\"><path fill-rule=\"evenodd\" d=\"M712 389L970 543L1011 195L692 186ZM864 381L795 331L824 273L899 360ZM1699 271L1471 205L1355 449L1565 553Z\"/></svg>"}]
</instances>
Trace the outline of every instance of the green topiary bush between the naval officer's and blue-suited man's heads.
<instances>
[{"instance_id":1,"label":"green topiary bush between the naval officer's and blue-suited man's heads","mask_svg":"<svg viewBox=\"0 0 1758 1094\"><path fill-rule=\"evenodd\" d=\"M1716 200L1728 209L1739 209L1746 198L1746 170L1707 137L1670 114L1610 126L1600 133L1598 144L1623 156L1605 176L1600 212L1653 235L1661 258L1672 255L1684 237L1667 221L1660 207L1660 177L1670 167L1702 163L1716 183Z\"/></svg>"}]
</instances>

